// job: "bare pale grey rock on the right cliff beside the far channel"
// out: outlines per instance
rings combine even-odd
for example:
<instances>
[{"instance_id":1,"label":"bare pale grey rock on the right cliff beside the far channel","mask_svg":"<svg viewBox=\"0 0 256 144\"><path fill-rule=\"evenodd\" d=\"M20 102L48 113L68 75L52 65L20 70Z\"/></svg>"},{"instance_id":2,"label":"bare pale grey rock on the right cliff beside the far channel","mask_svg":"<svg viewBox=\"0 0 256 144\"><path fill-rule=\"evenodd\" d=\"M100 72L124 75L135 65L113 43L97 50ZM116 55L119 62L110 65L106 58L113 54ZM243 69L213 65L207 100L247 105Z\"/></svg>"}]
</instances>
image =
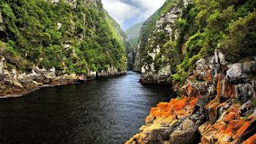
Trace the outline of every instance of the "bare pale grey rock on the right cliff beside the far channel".
<instances>
[{"instance_id":1,"label":"bare pale grey rock on the right cliff beside the far channel","mask_svg":"<svg viewBox=\"0 0 256 144\"><path fill-rule=\"evenodd\" d=\"M161 66L156 69L155 68L155 64L154 61L163 61L164 59L167 59L166 61L168 61L168 58L162 54L161 57L158 59L157 56L160 54L160 50L161 50L161 46L156 46L156 47L152 47L153 44L150 44L150 42L154 42L154 34L158 34L160 32L164 32L166 34L167 37L169 37L171 39L171 37L173 36L173 34L175 33L175 30L173 30L171 27L174 25L175 20L180 16L181 13L181 9L179 9L178 7L174 7L173 9L171 9L168 13L163 14L161 18L159 18L159 20L156 22L156 26L155 29L153 31L153 34L151 34L148 42L150 47L152 48L152 50L147 51L147 57L151 57L152 58L152 62L146 62L146 60L144 60L142 58L142 62L141 62L141 70L142 70L142 81L143 83L168 83L167 79L170 77L171 70L170 70L170 65L168 64L161 64ZM138 47L140 48L140 47ZM138 58L138 57L137 57ZM137 59L135 58L135 59ZM136 63L135 63L136 64ZM139 68L136 67L136 69L138 70Z\"/></svg>"}]
</instances>

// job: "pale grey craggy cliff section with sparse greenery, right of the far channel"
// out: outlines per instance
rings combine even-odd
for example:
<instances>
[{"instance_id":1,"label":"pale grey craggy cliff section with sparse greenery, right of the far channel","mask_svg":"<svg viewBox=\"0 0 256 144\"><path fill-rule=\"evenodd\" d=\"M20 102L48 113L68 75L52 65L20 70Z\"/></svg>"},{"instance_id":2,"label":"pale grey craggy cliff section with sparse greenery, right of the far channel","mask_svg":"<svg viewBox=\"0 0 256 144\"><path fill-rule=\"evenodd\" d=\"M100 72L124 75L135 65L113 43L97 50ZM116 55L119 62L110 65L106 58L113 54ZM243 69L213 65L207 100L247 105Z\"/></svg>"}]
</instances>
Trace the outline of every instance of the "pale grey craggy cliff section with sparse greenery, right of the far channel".
<instances>
[{"instance_id":1,"label":"pale grey craggy cliff section with sparse greenery, right of the far channel","mask_svg":"<svg viewBox=\"0 0 256 144\"><path fill-rule=\"evenodd\" d=\"M167 83L172 74L167 42L177 39L175 21L190 1L166 1L142 26L135 51L134 70L142 72L144 83Z\"/></svg>"}]
</instances>

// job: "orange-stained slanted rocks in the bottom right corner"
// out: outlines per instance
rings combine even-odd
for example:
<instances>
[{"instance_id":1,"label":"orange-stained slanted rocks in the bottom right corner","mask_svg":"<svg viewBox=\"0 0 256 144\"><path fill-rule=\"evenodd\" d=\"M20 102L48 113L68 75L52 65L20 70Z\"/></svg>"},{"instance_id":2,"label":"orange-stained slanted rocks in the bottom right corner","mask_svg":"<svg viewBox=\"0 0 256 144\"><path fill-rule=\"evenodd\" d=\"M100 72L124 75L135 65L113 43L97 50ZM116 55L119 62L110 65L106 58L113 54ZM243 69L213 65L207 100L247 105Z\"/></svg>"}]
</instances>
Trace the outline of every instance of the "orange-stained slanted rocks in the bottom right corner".
<instances>
[{"instance_id":1,"label":"orange-stained slanted rocks in the bottom right corner","mask_svg":"<svg viewBox=\"0 0 256 144\"><path fill-rule=\"evenodd\" d=\"M217 122L206 122L199 127L202 143L241 143L245 135L255 133L256 118L244 118L239 115L239 103L226 110ZM254 139L254 138L252 138Z\"/></svg>"}]
</instances>

